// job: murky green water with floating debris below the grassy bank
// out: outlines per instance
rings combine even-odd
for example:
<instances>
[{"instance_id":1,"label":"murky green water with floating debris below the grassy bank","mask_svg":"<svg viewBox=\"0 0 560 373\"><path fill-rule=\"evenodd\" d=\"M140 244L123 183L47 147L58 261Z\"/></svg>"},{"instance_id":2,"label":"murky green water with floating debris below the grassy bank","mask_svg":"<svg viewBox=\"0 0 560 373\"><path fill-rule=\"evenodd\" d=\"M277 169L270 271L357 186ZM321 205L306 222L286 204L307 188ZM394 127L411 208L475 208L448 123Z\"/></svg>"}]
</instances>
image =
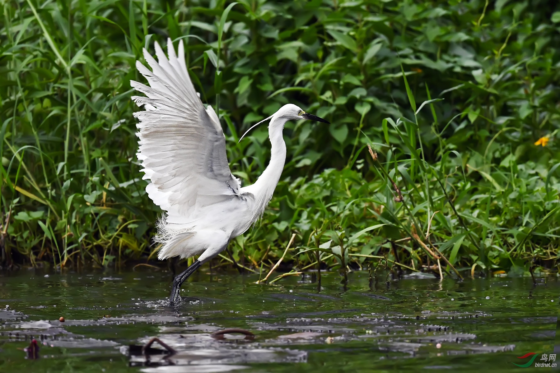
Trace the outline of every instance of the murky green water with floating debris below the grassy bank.
<instances>
[{"instance_id":1,"label":"murky green water with floating debris below the grassy bank","mask_svg":"<svg viewBox=\"0 0 560 373\"><path fill-rule=\"evenodd\" d=\"M560 294L556 278L535 287L530 278L403 278L370 291L367 273L354 272L343 291L323 273L318 292L309 276L263 286L200 273L183 286L190 301L171 308L161 301L170 273L0 276L1 372L531 371L513 362L553 353ZM256 337L211 337L225 328ZM130 356L129 345L152 337L178 353ZM24 351L32 338L38 360Z\"/></svg>"}]
</instances>

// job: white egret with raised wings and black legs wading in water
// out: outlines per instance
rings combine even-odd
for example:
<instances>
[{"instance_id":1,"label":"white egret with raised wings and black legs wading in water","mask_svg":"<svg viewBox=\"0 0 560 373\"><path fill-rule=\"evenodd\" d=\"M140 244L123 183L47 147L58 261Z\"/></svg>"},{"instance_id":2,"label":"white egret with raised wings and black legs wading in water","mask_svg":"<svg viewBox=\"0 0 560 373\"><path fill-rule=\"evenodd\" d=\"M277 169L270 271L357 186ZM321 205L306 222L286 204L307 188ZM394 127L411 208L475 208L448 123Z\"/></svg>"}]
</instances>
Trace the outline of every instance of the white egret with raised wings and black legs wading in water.
<instances>
[{"instance_id":1,"label":"white egret with raised wings and black legs wading in water","mask_svg":"<svg viewBox=\"0 0 560 373\"><path fill-rule=\"evenodd\" d=\"M150 180L146 192L166 211L157 226L155 240L163 244L158 258L200 255L174 278L170 296L174 303L180 299L179 289L187 277L262 216L286 160L284 124L298 119L329 122L287 104L255 124L253 127L270 120L270 162L253 185L241 187L227 162L220 120L211 106L204 108L190 81L183 41L179 42L178 55L170 39L168 57L157 43L155 50L157 62L143 50L152 71L136 62L150 86L135 81L130 85L146 95L132 97L138 106L144 106L144 111L134 116L139 119L137 156L143 178Z\"/></svg>"}]
</instances>

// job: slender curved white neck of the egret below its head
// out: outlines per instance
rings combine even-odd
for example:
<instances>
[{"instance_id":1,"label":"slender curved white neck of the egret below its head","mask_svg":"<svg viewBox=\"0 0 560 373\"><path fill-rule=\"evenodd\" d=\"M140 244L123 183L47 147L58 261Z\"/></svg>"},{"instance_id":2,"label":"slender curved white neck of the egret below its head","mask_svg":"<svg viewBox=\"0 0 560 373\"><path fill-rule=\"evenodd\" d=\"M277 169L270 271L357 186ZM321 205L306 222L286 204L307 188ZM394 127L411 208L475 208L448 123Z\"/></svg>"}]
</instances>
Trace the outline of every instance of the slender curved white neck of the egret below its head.
<instances>
[{"instance_id":1,"label":"slender curved white neck of the egret below its head","mask_svg":"<svg viewBox=\"0 0 560 373\"><path fill-rule=\"evenodd\" d=\"M255 196L255 215L253 221L262 215L264 208L267 206L274 189L280 180L282 171L284 169L284 162L286 162L286 143L282 137L282 130L287 119L283 117L272 117L268 125L268 137L270 139L270 162L268 167L259 176L258 180L245 188L245 192L253 193Z\"/></svg>"}]
</instances>

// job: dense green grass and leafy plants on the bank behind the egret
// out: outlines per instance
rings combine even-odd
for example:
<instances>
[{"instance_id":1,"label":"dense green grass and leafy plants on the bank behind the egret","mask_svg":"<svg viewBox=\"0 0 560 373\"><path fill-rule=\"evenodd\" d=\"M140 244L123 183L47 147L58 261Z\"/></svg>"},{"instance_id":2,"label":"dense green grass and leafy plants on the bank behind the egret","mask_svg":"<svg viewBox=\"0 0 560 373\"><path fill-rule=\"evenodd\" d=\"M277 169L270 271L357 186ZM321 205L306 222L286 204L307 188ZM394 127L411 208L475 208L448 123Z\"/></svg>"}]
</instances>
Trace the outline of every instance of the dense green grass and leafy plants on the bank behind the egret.
<instances>
[{"instance_id":1,"label":"dense green grass and leafy plants on the bank behind the egret","mask_svg":"<svg viewBox=\"0 0 560 373\"><path fill-rule=\"evenodd\" d=\"M1 7L4 268L153 263L160 211L135 156L129 81L142 81L141 49L153 52L153 41L169 36L186 43L203 102L220 107L244 185L269 157L264 125L237 144L251 124L288 102L332 122L286 126L274 198L256 228L230 244L245 267L264 277L295 233L283 262L294 272L318 258L323 268L438 272L438 252L450 274L447 261L469 276L558 272L556 3ZM220 265L230 265L226 253L212 263Z\"/></svg>"}]
</instances>

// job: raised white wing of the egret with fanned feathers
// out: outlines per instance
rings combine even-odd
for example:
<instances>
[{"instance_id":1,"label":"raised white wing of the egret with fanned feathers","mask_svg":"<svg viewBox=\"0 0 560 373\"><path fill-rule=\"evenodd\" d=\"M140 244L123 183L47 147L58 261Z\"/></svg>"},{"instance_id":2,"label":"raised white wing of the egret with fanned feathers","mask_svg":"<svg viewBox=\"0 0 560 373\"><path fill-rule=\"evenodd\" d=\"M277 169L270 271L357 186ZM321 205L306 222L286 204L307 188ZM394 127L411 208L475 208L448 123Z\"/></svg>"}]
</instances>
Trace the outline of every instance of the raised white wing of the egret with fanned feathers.
<instances>
[{"instance_id":1,"label":"raised white wing of the egret with fanned feathers","mask_svg":"<svg viewBox=\"0 0 560 373\"><path fill-rule=\"evenodd\" d=\"M146 191L167 211L167 223L186 223L203 207L239 195L240 182L231 174L218 116L211 106L204 109L190 81L183 41L179 58L170 39L169 58L157 43L155 50L157 62L143 50L152 71L136 63L150 86L130 81L146 95L132 97L145 108L134 113L139 119L137 156L143 178L151 181Z\"/></svg>"}]
</instances>

